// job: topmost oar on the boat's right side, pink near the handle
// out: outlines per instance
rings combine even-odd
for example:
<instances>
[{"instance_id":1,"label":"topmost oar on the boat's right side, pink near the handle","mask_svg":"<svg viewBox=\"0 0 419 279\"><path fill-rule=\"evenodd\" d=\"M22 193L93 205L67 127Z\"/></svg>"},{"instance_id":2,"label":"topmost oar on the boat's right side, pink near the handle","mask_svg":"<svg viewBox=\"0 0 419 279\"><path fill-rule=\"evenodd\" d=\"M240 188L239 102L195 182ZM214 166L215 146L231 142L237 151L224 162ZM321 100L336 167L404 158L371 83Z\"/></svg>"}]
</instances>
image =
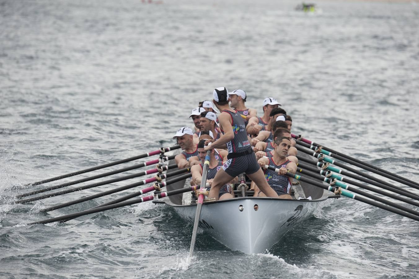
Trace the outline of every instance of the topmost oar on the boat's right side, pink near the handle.
<instances>
[{"instance_id":1,"label":"topmost oar on the boat's right side, pink near the handle","mask_svg":"<svg viewBox=\"0 0 419 279\"><path fill-rule=\"evenodd\" d=\"M361 160L358 160L357 158L353 158L353 157L351 157L351 156L349 156L349 155L343 154L343 153L338 152L338 151L336 151L336 150L333 150L333 149L331 149L331 148L324 147L323 145L319 145L319 144L318 144L318 143L316 143L316 142L312 142L312 141L307 140L307 139L305 139L305 138L303 138L303 137L298 137L298 136L297 136L297 135L295 135L295 134L291 134L291 136L292 136L293 138L297 139L297 141L296 141L297 143L304 142L304 143L305 143L305 144L307 144L307 145L311 145L311 146L313 146L313 147L310 147L311 149L316 150L316 149L315 149L316 147L321 147L322 153L323 153L323 154L325 154L325 155L329 155L328 153L332 152L332 153L334 153L335 155L338 155L338 156L340 156L340 157L342 157L342 158L335 157L335 155L329 155L329 156L331 156L331 157L334 157L334 158L339 159L339 160L342 160L342 161L345 161L343 158L346 158L346 159L348 159L348 160L351 160L352 162L356 162L356 163L358 163L358 164L361 164L361 165L362 165L362 167L360 167L360 168L365 168L365 167L368 167L368 168L370 168L370 169L373 169L373 170L375 170L375 171L380 172L380 173L377 173L377 174L380 174L380 175L383 175L383 174L381 174L381 173L385 173L385 174L387 174L388 176L385 176L385 177L387 177L387 178L393 179L393 180L398 181L398 182L403 183L403 184L409 183L409 184L406 184L406 185L411 186L411 187L413 187L413 188L419 187L419 183L417 183L417 182L415 182L415 181L411 181L410 179L408 179L408 178L406 178L406 177L399 176L399 175L397 175L397 174L395 174L395 173L391 173L391 172L386 171L386 170L384 170L384 169L382 169L382 168L378 168L378 167L377 167L377 166L375 166L375 165L371 165L371 164L369 164L369 163L365 163L365 162L363 162L363 161L361 161ZM328 152L326 152L326 150L327 150ZM331 153L330 153L330 154L331 154ZM347 161L345 161L345 162L347 162ZM348 162L348 163L351 163L351 162ZM352 164L352 165L354 165L354 164ZM365 168L365 169L367 169L367 168ZM383 176L384 176L384 175L383 175ZM396 180L396 178L398 178L398 179ZM402 181L404 181L404 182L402 182ZM412 184L414 184L415 186L412 186ZM419 189L419 188L416 188L416 189Z\"/></svg>"}]
</instances>

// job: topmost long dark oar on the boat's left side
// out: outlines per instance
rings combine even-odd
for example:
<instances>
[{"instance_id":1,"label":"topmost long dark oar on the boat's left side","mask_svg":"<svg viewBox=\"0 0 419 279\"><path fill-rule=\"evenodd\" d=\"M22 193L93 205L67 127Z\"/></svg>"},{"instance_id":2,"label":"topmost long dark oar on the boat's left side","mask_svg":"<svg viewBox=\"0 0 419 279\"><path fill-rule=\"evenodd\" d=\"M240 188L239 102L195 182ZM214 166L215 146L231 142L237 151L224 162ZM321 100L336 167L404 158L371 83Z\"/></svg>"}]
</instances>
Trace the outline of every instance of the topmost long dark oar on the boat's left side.
<instances>
[{"instance_id":1,"label":"topmost long dark oar on the boat's left side","mask_svg":"<svg viewBox=\"0 0 419 279\"><path fill-rule=\"evenodd\" d=\"M96 171L96 170L99 170L101 168L107 168L107 167L111 167L113 165L119 165L119 164L122 164L122 163L127 163L127 162L130 162L130 161L133 161L133 160L157 155L157 154L168 152L170 150L175 150L175 149L178 149L178 148L180 148L179 145L174 145L174 146L171 146L171 147L164 147L164 148L160 147L160 149L158 149L158 150L154 150L154 151L151 151L151 152L148 152L148 153L144 153L142 155L130 157L130 158L123 159L123 160L118 160L118 161L115 161L115 162L112 162L112 163L107 163L107 164L104 164L104 165L98 165L97 167L93 167L93 168L86 168L86 169L81 170L81 171L75 171L74 173L63 174L62 176L57 176L57 177L45 179L45 180L42 180L42 181L28 183L26 185L23 185L23 187L35 186L35 185L39 185L39 184L43 184L43 183L47 183L47 182L51 182L51 181L56 181L56 180L59 180L59 179L62 179L62 178L67 178L67 177L70 177L70 176L76 176L76 175L82 174L82 173L88 173L90 171Z\"/></svg>"}]
</instances>

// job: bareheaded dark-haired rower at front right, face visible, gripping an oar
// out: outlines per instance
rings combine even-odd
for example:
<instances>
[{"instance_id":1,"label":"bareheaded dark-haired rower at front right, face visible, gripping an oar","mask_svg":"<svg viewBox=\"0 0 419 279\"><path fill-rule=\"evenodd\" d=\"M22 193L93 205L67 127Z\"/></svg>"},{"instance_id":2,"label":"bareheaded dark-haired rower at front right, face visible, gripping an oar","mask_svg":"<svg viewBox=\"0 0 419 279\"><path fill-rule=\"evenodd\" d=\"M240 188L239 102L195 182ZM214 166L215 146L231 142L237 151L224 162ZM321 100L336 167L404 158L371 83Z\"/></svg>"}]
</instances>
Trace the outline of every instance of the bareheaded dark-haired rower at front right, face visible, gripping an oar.
<instances>
[{"instance_id":1,"label":"bareheaded dark-haired rower at front right, face visible, gripping an oar","mask_svg":"<svg viewBox=\"0 0 419 279\"><path fill-rule=\"evenodd\" d=\"M287 159L288 150L291 147L291 141L287 137L277 137L274 141L274 156L271 158L260 158L258 160L259 165L270 165L274 168L278 168L279 172L266 169L264 171L266 181L269 186L275 190L281 199L292 199L291 192L291 180L285 173L294 173L297 171L297 165ZM258 188L258 184L255 186L255 196L265 196L261 193Z\"/></svg>"}]
</instances>

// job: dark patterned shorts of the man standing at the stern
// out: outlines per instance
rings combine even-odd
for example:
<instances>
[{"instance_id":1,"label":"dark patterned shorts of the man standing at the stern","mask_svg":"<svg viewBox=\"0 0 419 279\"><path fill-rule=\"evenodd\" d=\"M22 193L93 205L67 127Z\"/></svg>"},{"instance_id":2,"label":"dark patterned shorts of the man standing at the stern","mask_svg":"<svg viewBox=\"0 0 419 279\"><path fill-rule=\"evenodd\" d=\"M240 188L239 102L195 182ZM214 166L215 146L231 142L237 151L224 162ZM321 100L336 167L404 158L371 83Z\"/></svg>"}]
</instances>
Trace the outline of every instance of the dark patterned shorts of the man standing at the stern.
<instances>
[{"instance_id":1,"label":"dark patterned shorts of the man standing at the stern","mask_svg":"<svg viewBox=\"0 0 419 279\"><path fill-rule=\"evenodd\" d=\"M236 177L241 173L252 174L259 171L259 164L256 160L255 153L228 159L222 169L231 177Z\"/></svg>"}]
</instances>

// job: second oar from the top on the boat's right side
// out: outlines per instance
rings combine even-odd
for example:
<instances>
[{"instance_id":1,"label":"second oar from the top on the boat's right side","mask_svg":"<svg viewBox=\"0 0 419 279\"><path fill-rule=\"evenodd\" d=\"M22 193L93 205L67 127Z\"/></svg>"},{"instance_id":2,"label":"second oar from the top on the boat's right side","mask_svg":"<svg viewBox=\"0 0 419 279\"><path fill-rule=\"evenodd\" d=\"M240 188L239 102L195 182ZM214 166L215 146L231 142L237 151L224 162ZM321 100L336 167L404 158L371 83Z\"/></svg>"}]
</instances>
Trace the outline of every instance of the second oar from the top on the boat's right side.
<instances>
[{"instance_id":1,"label":"second oar from the top on the boat's right side","mask_svg":"<svg viewBox=\"0 0 419 279\"><path fill-rule=\"evenodd\" d=\"M309 145L309 144L307 144L307 143L305 143L305 142L301 142L301 141L298 141L298 140L297 140L296 142L297 142L299 145L301 145L301 146L304 146L304 147L310 148L310 149L312 149L312 150L315 150L317 153L322 153L322 154L324 154L324 155L331 156L331 157L333 157L333 158L336 158L336 159L338 159L338 160L344 161L344 162L349 163L349 164L351 164L351 165L356 165L357 167L363 168L363 169L365 169L366 171L370 171L370 172L372 172L372 173L376 173L376 174L378 174L378 175L380 175L380 176L384 176L384 177L386 177L386 178L390 178L390 179L391 179L391 180L393 180L393 181L397 181L397 182L403 183L404 185L410 186L410 187L412 187L412 188L419 189L419 185L416 185L415 183L411 183L411 182L409 182L409 181L405 181L405 180L403 180L403 179L400 179L400 178L398 178L398 176L397 176L396 174L394 174L394 173L390 173L390 172L385 173L385 172L383 172L383 171L379 171L379 170L377 170L377 167L374 167L373 165L370 165L370 164L366 165L366 164L364 164L364 163L358 163L358 162L357 162L357 161L355 161L355 160L348 159L348 158L343 157L343 156L340 156L340 155L336 155L336 154L334 154L334 153L332 153L332 152L330 152L330 151L327 151L326 149L323 149L323 147L321 147L321 146ZM348 157L349 157L349 156L348 156ZM371 167L370 167L370 166L371 166ZM388 174L388 173L389 173L389 174Z\"/></svg>"}]
</instances>

